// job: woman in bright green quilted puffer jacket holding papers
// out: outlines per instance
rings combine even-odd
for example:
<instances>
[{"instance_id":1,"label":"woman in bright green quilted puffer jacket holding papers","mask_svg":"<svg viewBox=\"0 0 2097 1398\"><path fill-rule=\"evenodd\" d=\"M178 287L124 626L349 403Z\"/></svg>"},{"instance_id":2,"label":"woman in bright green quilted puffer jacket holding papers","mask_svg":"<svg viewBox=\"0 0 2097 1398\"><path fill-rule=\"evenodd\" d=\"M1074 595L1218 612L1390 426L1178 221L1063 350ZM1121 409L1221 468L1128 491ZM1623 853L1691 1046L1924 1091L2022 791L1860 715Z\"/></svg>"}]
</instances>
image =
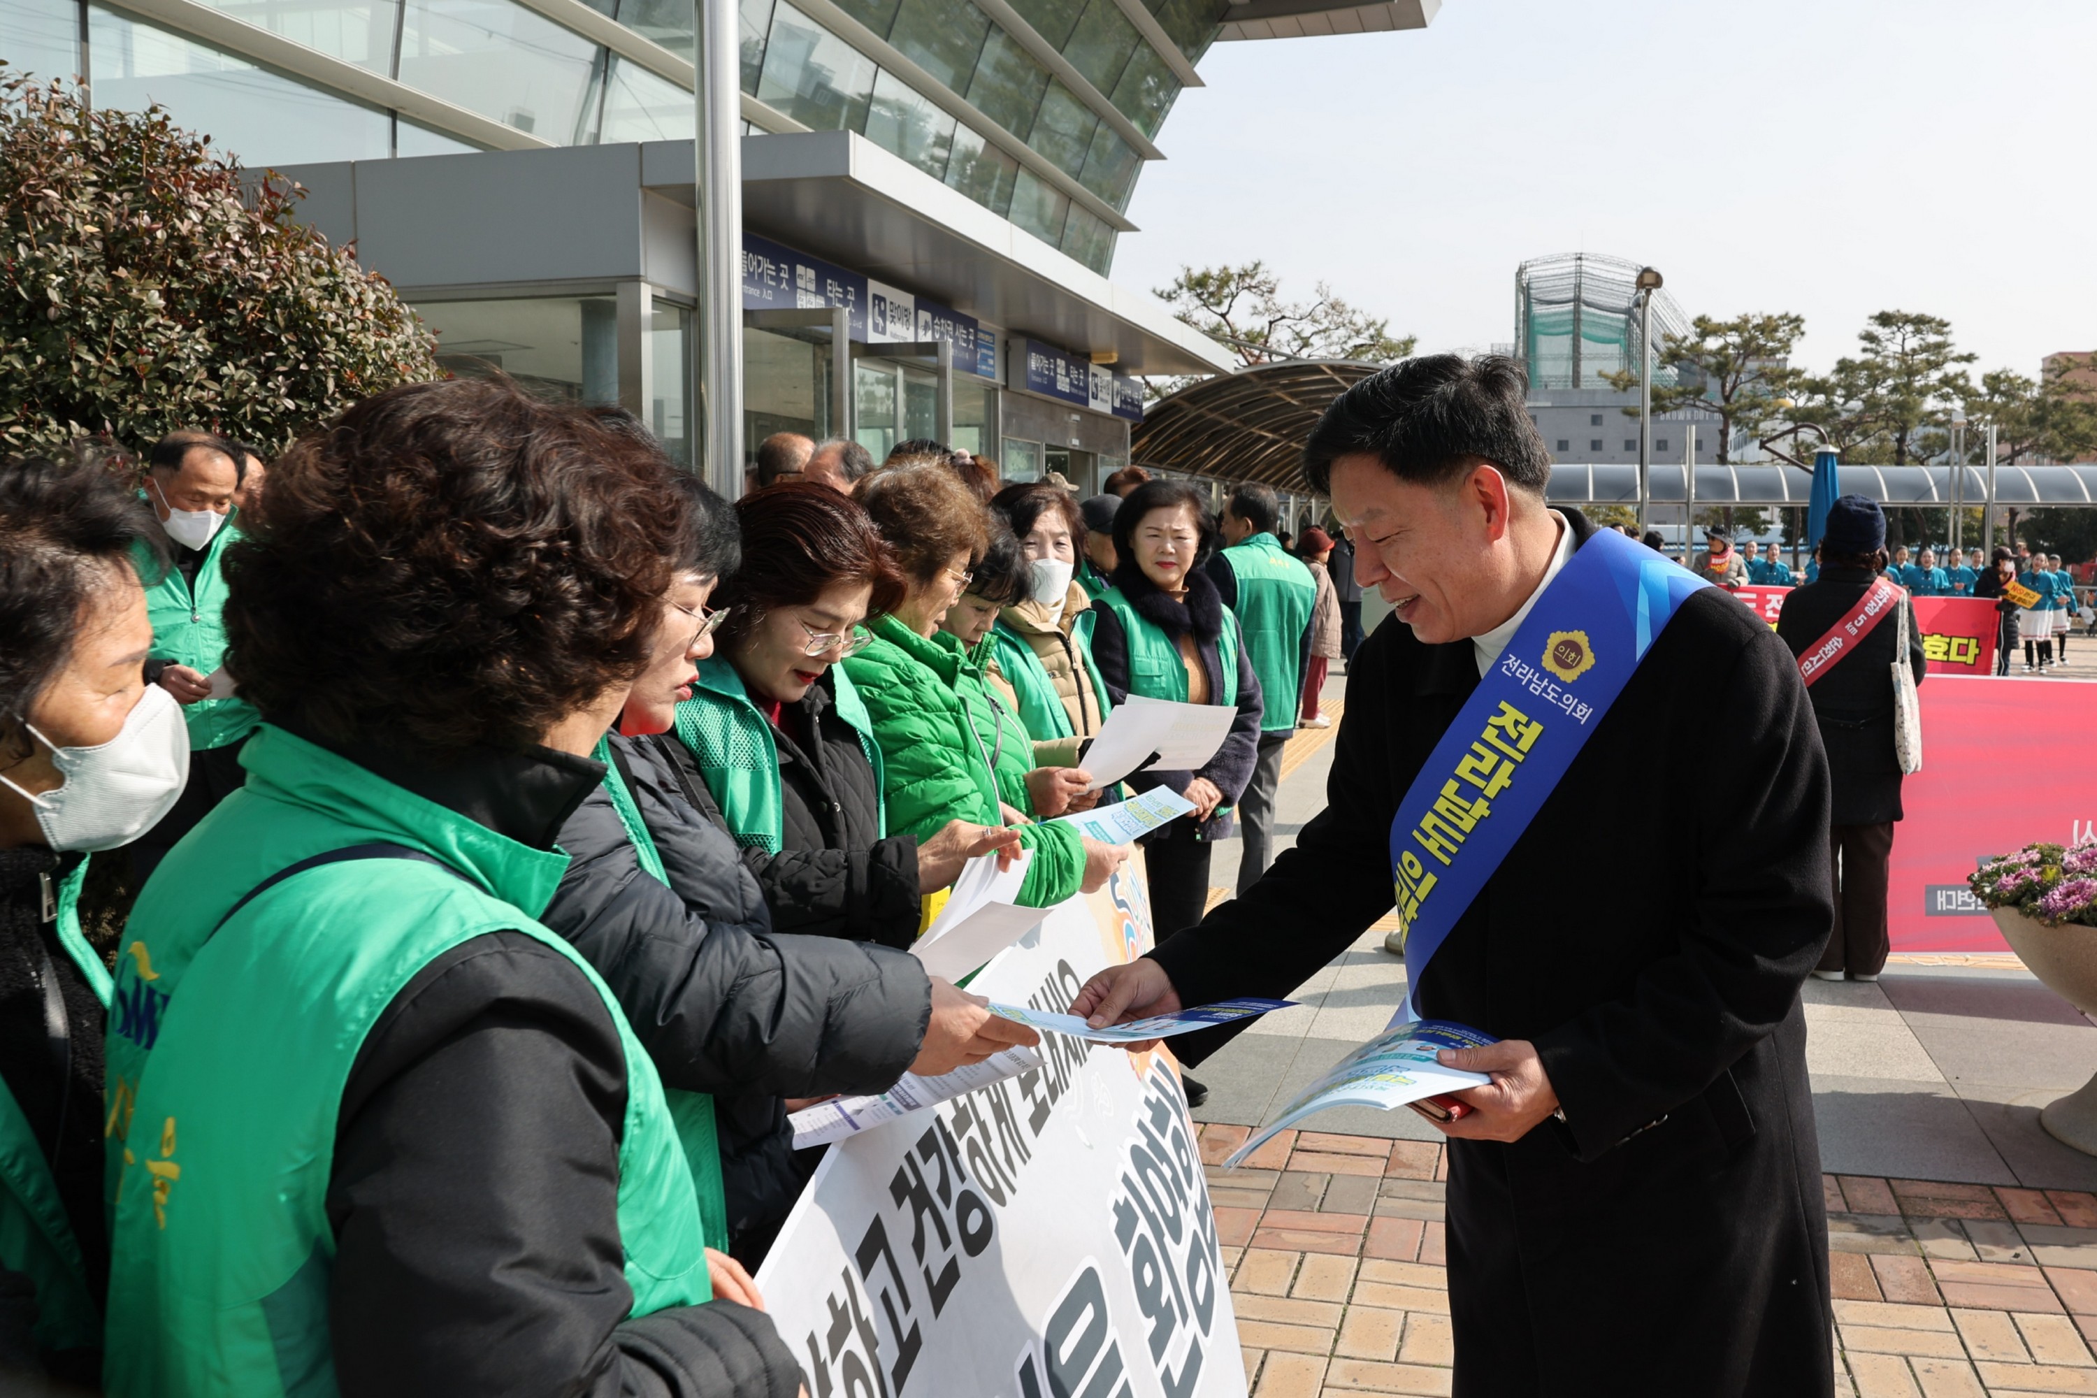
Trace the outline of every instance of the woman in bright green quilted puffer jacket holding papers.
<instances>
[{"instance_id":1,"label":"woman in bright green quilted puffer jacket holding papers","mask_svg":"<svg viewBox=\"0 0 2097 1398\"><path fill-rule=\"evenodd\" d=\"M931 836L950 820L1015 824L1028 851L1023 905L1053 908L1099 889L1128 851L1069 826L1036 824L1065 809L1088 778L1069 767L1038 776L1030 738L1000 742L988 704L971 696L967 652L939 631L990 539L983 505L950 467L931 463L874 472L853 499L904 572L904 595L868 622L872 643L843 667L881 746L889 828Z\"/></svg>"}]
</instances>

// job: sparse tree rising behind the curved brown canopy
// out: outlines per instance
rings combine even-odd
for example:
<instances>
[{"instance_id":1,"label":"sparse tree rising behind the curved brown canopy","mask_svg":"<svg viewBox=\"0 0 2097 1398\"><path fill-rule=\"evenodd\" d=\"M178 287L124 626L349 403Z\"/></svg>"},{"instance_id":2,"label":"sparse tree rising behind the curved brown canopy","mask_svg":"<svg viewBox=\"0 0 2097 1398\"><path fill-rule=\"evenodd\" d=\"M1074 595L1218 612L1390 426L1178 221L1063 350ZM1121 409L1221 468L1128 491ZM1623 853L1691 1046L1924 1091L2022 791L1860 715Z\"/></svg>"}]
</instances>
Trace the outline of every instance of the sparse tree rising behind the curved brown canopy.
<instances>
[{"instance_id":1,"label":"sparse tree rising behind the curved brown canopy","mask_svg":"<svg viewBox=\"0 0 2097 1398\"><path fill-rule=\"evenodd\" d=\"M1155 291L1172 316L1237 354L1241 365L1290 358L1350 358L1390 365L1413 352L1418 335L1392 335L1388 316L1371 316L1317 283L1309 302L1281 296L1281 277L1264 262L1244 266L1181 266L1170 287ZM1153 394L1170 394L1193 377L1145 379Z\"/></svg>"}]
</instances>

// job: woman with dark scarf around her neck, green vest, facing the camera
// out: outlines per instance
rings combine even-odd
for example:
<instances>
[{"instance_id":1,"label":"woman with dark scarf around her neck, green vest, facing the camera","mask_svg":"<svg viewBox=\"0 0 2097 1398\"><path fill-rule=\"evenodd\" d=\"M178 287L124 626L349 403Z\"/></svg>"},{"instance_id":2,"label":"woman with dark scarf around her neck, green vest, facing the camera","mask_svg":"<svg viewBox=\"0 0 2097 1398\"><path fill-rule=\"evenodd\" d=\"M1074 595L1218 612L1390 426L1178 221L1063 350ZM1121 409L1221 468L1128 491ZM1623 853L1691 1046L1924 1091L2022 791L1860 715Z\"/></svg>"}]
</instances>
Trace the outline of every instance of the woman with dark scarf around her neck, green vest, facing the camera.
<instances>
[{"instance_id":1,"label":"woman with dark scarf around her neck, green vest, facing the camera","mask_svg":"<svg viewBox=\"0 0 2097 1398\"><path fill-rule=\"evenodd\" d=\"M1130 694L1237 708L1223 748L1199 771L1139 771L1134 790L1170 786L1193 813L1149 834L1143 866L1158 941L1202 920L1214 840L1231 834L1231 805L1252 780L1260 744L1260 681L1237 618L1204 564L1216 530L1202 493L1183 480L1149 480L1114 518L1120 566L1095 610L1093 656L1116 704Z\"/></svg>"}]
</instances>

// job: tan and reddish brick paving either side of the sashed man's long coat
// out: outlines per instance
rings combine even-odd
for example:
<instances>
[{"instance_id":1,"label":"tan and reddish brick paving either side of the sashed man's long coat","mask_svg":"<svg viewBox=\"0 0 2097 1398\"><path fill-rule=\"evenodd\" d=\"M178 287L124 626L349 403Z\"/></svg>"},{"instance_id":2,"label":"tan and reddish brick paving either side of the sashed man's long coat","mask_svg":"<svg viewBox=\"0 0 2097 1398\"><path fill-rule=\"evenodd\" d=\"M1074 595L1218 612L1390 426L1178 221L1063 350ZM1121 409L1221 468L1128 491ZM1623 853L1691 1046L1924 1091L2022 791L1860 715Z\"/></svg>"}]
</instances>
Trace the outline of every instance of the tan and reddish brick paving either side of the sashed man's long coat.
<instances>
[{"instance_id":1,"label":"tan and reddish brick paving either side of the sashed man's long coat","mask_svg":"<svg viewBox=\"0 0 2097 1398\"><path fill-rule=\"evenodd\" d=\"M1443 1149L1281 1132L1218 1161L1204 1126L1254 1398L1447 1394ZM1824 1176L1837 1392L2097 1394L2097 1195Z\"/></svg>"}]
</instances>

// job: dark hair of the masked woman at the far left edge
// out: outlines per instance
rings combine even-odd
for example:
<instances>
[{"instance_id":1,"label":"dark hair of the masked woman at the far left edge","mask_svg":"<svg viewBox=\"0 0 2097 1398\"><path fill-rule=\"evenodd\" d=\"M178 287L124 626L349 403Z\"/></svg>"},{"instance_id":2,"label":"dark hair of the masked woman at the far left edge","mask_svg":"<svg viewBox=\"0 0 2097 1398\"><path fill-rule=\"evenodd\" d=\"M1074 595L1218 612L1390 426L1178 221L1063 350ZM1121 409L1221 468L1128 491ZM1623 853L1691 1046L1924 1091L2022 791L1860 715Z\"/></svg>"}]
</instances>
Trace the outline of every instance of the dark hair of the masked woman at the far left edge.
<instances>
[{"instance_id":1,"label":"dark hair of the masked woman at the far left edge","mask_svg":"<svg viewBox=\"0 0 2097 1398\"><path fill-rule=\"evenodd\" d=\"M0 459L0 734L13 750L19 721L65 669L80 614L111 576L164 549L153 511L92 444L50 457Z\"/></svg>"}]
</instances>

